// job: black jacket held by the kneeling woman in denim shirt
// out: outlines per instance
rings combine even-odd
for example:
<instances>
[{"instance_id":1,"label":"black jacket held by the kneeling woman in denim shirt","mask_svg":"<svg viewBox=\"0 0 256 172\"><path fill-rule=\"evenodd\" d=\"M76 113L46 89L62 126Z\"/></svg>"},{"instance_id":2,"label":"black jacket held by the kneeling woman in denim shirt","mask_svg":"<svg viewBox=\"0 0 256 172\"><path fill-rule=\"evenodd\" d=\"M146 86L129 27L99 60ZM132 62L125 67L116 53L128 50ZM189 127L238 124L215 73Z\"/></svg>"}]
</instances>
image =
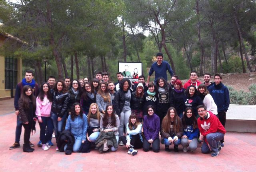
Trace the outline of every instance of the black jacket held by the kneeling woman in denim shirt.
<instances>
[{"instance_id":1,"label":"black jacket held by the kneeling woman in denim shirt","mask_svg":"<svg viewBox=\"0 0 256 172\"><path fill-rule=\"evenodd\" d=\"M60 150L60 152L64 152L65 145L66 144L68 145L65 151L66 154L72 153L74 143L75 143L75 138L70 130L62 131L60 133L60 136L57 139L57 147Z\"/></svg>"}]
</instances>

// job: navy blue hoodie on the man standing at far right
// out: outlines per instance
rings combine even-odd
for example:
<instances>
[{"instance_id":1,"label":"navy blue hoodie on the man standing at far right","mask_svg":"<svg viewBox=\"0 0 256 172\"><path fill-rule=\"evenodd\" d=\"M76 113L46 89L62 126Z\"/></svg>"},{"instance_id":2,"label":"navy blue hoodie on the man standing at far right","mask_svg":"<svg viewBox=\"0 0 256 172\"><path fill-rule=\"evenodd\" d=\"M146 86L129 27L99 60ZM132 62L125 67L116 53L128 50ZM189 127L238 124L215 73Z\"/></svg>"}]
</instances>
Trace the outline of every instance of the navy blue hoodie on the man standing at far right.
<instances>
[{"instance_id":1,"label":"navy blue hoodie on the man standing at far right","mask_svg":"<svg viewBox=\"0 0 256 172\"><path fill-rule=\"evenodd\" d=\"M227 111L230 103L228 88L221 82L218 85L214 82L208 90L217 105L218 112Z\"/></svg>"}]
</instances>

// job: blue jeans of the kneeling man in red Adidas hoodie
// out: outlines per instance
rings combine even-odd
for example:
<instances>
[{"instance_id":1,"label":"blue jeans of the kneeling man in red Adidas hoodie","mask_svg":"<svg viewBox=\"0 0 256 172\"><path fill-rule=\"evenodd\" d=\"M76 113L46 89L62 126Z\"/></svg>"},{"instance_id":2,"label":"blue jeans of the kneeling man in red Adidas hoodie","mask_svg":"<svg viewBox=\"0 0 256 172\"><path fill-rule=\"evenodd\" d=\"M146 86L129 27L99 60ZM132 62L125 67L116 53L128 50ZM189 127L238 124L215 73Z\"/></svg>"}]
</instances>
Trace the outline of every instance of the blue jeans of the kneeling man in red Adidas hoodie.
<instances>
[{"instance_id":1,"label":"blue jeans of the kneeling man in red Adidas hoodie","mask_svg":"<svg viewBox=\"0 0 256 172\"><path fill-rule=\"evenodd\" d=\"M202 148L201 148L202 153L209 153L211 151L217 153L218 152L218 141L221 141L224 138L224 135L225 134L219 133L219 132L210 133L210 134L206 135L206 140L209 143L211 150L208 147L207 143L204 142L202 144Z\"/></svg>"}]
</instances>

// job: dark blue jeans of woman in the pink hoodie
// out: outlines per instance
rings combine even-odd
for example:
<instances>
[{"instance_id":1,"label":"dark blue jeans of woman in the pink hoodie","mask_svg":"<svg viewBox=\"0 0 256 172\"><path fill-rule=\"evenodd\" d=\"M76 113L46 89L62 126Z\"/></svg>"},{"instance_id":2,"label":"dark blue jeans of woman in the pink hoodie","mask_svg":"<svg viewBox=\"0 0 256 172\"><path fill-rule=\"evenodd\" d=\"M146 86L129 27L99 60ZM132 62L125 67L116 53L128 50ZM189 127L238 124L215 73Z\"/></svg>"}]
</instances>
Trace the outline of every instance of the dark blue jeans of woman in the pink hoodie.
<instances>
[{"instance_id":1,"label":"dark blue jeans of woman in the pink hoodie","mask_svg":"<svg viewBox=\"0 0 256 172\"><path fill-rule=\"evenodd\" d=\"M51 117L41 117L41 118L42 118L42 123L39 123L40 140L42 141L42 144L46 144L48 140L52 139L53 123L52 123ZM47 132L46 132L46 126L47 126Z\"/></svg>"}]
</instances>

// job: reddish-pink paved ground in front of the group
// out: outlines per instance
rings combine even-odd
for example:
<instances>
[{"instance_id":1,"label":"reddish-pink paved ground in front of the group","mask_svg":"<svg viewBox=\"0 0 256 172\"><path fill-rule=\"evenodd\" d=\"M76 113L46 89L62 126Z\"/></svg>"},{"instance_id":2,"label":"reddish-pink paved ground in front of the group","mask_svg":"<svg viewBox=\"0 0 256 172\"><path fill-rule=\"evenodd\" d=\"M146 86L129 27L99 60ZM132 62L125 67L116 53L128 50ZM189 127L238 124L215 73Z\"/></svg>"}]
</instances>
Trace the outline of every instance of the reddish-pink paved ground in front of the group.
<instances>
[{"instance_id":1,"label":"reddish-pink paved ground in front of the group","mask_svg":"<svg viewBox=\"0 0 256 172\"><path fill-rule=\"evenodd\" d=\"M172 146L171 152L165 152L164 145L161 145L158 153L139 149L136 156L126 154L125 147L119 147L117 152L100 154L92 150L90 153L65 155L55 151L55 147L49 151L35 147L32 153L22 152L21 147L9 150L14 143L15 127L13 99L0 101L0 172L255 172L256 169L255 133L227 133L225 147L217 157L202 154L200 144L196 152L182 152L181 146L180 152L174 152ZM38 142L40 131L38 124L36 127L36 134L30 137L34 144Z\"/></svg>"}]
</instances>

